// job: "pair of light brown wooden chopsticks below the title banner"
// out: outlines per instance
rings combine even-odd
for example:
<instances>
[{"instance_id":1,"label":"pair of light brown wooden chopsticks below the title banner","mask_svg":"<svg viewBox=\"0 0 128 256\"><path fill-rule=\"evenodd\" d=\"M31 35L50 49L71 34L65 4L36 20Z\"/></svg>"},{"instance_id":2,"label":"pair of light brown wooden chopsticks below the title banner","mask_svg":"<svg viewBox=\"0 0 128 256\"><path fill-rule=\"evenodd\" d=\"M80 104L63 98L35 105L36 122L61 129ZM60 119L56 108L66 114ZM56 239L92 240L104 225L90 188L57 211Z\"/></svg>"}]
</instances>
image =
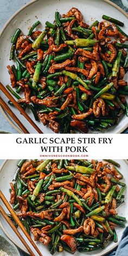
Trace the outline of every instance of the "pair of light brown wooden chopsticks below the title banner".
<instances>
[{"instance_id":1,"label":"pair of light brown wooden chopsticks below the title banner","mask_svg":"<svg viewBox=\"0 0 128 256\"><path fill-rule=\"evenodd\" d=\"M7 201L7 199L5 198L5 196L3 195L2 191L0 190L0 199L3 201L4 205L7 207L7 209L9 210L11 216L14 218L14 220L17 222L18 226L21 228L22 232L24 233L24 235L27 237L27 239L29 240L30 244L33 245L34 249L36 250L36 252L42 256L42 253L39 251L39 248L35 245L35 242L31 239L30 235L28 234L28 232L25 230L22 222L20 221L20 219L18 218L18 216L16 215L16 213L14 212L14 210L11 208L9 202ZM28 246L27 242L23 239L22 235L20 234L20 232L18 232L17 228L14 226L14 223L12 223L12 221L9 219L7 213L5 213L4 209L2 208L2 206L0 206L0 213L2 214L2 216L4 217L4 219L8 222L9 226L12 228L12 230L15 232L15 234L18 236L18 238L21 240L21 242L23 243L23 245L27 248L28 252L30 253L31 256L35 256L35 254L33 253L33 251L31 251L30 247Z\"/></svg>"}]
</instances>

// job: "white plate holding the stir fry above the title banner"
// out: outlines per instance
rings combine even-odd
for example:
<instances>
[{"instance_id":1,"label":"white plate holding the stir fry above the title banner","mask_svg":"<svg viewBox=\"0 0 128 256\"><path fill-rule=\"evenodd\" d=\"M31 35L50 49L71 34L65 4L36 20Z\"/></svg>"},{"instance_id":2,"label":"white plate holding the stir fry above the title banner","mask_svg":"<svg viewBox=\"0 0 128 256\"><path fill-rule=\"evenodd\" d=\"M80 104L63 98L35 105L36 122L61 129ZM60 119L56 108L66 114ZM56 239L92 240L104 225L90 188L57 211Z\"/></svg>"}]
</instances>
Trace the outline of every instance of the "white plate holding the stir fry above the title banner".
<instances>
[{"instance_id":1,"label":"white plate holding the stir fry above the title banner","mask_svg":"<svg viewBox=\"0 0 128 256\"><path fill-rule=\"evenodd\" d=\"M72 7L78 8L85 18L85 21L91 24L94 20L102 20L103 14L109 15L111 17L117 18L125 23L123 30L127 31L127 17L126 12L121 10L116 4L108 0L36 0L31 1L27 5L24 5L19 11L17 11L10 20L4 25L0 38L1 46L1 81L4 85L7 85L10 81L9 74L7 71L7 65L11 65L13 61L9 61L9 53L11 48L11 36L17 28L20 28L24 34L28 33L30 25L32 25L36 20L41 21L41 29L44 28L45 22L48 20L50 22L54 21L55 11L58 10L60 14L65 14ZM1 93L2 94L2 93ZM7 97L2 94L3 99L8 103ZM16 116L22 121L23 125L27 127L30 133L35 133L35 129L28 123L27 120L14 108L11 107L12 111ZM33 118L33 114L28 111L29 116ZM8 116L8 114L7 114ZM10 118L11 119L11 118ZM14 121L12 122L13 125ZM37 122L36 122L37 123ZM37 123L40 129L44 133L53 133L52 130L47 126L43 126L41 123ZM114 126L102 133L120 133L127 127L127 117L124 116L117 126ZM17 131L21 132L18 127Z\"/></svg>"}]
</instances>

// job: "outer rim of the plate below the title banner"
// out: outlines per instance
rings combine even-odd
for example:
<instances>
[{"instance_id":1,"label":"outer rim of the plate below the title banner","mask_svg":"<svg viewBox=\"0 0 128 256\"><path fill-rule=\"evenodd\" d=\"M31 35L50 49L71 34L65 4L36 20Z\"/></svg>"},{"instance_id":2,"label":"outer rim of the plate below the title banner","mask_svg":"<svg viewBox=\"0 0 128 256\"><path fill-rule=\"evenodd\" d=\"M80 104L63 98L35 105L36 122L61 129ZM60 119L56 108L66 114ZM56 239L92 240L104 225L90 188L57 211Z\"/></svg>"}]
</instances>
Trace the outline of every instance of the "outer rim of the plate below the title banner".
<instances>
[{"instance_id":1,"label":"outer rim of the plate below the title banner","mask_svg":"<svg viewBox=\"0 0 128 256\"><path fill-rule=\"evenodd\" d=\"M122 159L122 160L128 165L128 160L126 160L126 159ZM7 162L8 162L8 160L4 160L4 161L3 161L2 165L0 166L0 172L2 171L4 165L5 165ZM12 239L12 237L9 235L9 233L7 232L7 230L4 228L4 226L3 226L2 222L1 222L1 220L0 220L0 227L2 228L4 234L7 235L7 237L9 238L9 240L11 240L11 241L13 242L13 244L15 244L18 248L20 248L22 252L25 252L25 253L27 253L28 255L30 255L30 254L29 254L27 251L25 251L19 244L17 244L17 242L15 242L15 241ZM106 255L106 254L109 253L109 252L112 252L113 249L116 249L116 247L117 247L118 245L119 245L119 241L118 241L115 245L113 245L111 249L108 249L108 251L107 251L105 254L103 254L103 256Z\"/></svg>"}]
</instances>

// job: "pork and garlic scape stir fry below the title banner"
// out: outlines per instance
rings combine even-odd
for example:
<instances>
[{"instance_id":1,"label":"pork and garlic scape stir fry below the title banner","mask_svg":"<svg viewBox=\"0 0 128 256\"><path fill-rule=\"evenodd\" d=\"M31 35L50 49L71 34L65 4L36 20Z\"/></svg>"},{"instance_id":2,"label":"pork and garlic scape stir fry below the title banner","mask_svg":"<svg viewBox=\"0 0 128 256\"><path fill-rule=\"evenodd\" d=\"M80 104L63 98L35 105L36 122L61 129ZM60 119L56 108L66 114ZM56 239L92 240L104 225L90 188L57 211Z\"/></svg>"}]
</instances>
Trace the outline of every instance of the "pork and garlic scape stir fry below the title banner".
<instances>
[{"instance_id":1,"label":"pork and garlic scape stir fry below the title banner","mask_svg":"<svg viewBox=\"0 0 128 256\"><path fill-rule=\"evenodd\" d=\"M126 184L117 162L21 160L17 166L10 203L51 254L89 252L118 241L116 227L125 227L126 218L116 208L124 203Z\"/></svg>"}]
</instances>

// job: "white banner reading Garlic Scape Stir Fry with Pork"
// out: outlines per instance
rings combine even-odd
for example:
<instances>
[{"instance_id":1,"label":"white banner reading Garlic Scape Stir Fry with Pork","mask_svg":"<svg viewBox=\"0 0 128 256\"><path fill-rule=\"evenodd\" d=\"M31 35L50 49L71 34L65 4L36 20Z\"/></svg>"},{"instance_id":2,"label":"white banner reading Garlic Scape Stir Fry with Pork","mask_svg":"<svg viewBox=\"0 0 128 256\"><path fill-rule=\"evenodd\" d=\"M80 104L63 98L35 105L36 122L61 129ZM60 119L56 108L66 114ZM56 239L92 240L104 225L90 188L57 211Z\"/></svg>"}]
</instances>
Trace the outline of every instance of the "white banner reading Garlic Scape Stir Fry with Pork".
<instances>
[{"instance_id":1,"label":"white banner reading Garlic Scape Stir Fry with Pork","mask_svg":"<svg viewBox=\"0 0 128 256\"><path fill-rule=\"evenodd\" d=\"M124 134L0 135L1 159L127 159Z\"/></svg>"}]
</instances>

